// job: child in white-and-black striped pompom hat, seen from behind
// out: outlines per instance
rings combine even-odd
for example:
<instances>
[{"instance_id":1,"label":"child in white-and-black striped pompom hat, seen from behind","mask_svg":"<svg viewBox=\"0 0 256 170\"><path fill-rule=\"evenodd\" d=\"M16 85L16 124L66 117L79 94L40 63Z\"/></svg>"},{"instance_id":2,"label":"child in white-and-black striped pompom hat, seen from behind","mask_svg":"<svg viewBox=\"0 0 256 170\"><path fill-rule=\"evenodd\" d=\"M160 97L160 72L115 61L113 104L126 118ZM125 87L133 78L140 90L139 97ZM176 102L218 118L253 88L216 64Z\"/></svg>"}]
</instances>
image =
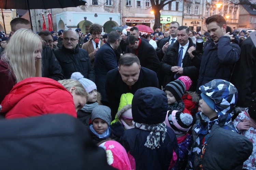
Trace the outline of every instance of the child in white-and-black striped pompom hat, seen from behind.
<instances>
[{"instance_id":1,"label":"child in white-and-black striped pompom hat, seen from behind","mask_svg":"<svg viewBox=\"0 0 256 170\"><path fill-rule=\"evenodd\" d=\"M167 111L165 122L174 131L179 146L179 159L173 170L185 169L191 140L191 135L187 131L193 125L193 117L180 111Z\"/></svg>"}]
</instances>

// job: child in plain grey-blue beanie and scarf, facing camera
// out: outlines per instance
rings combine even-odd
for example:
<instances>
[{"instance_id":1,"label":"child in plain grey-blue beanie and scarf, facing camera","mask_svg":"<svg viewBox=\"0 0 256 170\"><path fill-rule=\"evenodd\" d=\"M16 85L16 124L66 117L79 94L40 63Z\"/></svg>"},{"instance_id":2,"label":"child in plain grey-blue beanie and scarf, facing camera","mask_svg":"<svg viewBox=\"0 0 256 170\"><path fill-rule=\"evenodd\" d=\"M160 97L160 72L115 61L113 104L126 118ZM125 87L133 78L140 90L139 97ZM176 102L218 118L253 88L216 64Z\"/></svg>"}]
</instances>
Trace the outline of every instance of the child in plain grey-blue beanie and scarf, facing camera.
<instances>
[{"instance_id":1,"label":"child in plain grey-blue beanie and scarf, facing camera","mask_svg":"<svg viewBox=\"0 0 256 170\"><path fill-rule=\"evenodd\" d=\"M96 106L91 113L91 122L89 129L95 144L112 137L110 128L111 109L108 106Z\"/></svg>"}]
</instances>

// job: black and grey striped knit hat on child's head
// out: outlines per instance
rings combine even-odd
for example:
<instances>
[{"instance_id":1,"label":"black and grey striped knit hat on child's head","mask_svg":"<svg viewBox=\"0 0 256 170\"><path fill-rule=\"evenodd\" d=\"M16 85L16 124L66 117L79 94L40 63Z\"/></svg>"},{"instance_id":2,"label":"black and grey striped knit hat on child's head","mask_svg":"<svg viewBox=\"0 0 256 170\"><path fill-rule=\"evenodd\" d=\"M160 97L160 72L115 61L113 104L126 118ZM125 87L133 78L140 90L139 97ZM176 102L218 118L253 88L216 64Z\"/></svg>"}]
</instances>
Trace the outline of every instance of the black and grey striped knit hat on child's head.
<instances>
[{"instance_id":1,"label":"black and grey striped knit hat on child's head","mask_svg":"<svg viewBox=\"0 0 256 170\"><path fill-rule=\"evenodd\" d=\"M165 86L165 90L170 91L177 101L181 100L186 87L181 80L174 80Z\"/></svg>"}]
</instances>

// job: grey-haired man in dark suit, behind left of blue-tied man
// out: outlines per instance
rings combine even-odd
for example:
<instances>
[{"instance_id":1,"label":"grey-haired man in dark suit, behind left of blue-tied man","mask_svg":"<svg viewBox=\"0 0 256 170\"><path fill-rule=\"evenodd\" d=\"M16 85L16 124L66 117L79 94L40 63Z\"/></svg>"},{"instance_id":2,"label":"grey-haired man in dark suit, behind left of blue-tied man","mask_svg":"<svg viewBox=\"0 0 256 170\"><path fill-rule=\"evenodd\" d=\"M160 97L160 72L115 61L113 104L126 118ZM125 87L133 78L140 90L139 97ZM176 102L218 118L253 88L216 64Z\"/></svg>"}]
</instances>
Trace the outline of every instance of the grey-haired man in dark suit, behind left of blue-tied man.
<instances>
[{"instance_id":1,"label":"grey-haired man in dark suit, behind left of blue-tied man","mask_svg":"<svg viewBox=\"0 0 256 170\"><path fill-rule=\"evenodd\" d=\"M165 55L165 52L166 52L167 48L169 47L169 45L176 42L178 27L180 27L179 22L176 22L176 21L171 22L170 28L169 28L169 32L170 32L171 36L161 39L159 46L156 50L156 54L159 58L159 61L162 61L163 55Z\"/></svg>"}]
</instances>

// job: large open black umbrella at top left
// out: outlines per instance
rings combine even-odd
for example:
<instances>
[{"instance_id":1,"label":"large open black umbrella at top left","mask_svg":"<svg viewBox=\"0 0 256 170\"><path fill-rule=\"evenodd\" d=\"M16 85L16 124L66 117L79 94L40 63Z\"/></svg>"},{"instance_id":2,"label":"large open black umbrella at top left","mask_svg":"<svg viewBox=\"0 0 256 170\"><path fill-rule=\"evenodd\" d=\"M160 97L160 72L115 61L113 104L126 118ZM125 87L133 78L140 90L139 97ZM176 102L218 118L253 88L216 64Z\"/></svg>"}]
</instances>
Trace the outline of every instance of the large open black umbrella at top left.
<instances>
[{"instance_id":1,"label":"large open black umbrella at top left","mask_svg":"<svg viewBox=\"0 0 256 170\"><path fill-rule=\"evenodd\" d=\"M67 8L85 5L86 0L0 0L1 9L28 10L31 23L31 9ZM31 29L32 29L31 23Z\"/></svg>"}]
</instances>

